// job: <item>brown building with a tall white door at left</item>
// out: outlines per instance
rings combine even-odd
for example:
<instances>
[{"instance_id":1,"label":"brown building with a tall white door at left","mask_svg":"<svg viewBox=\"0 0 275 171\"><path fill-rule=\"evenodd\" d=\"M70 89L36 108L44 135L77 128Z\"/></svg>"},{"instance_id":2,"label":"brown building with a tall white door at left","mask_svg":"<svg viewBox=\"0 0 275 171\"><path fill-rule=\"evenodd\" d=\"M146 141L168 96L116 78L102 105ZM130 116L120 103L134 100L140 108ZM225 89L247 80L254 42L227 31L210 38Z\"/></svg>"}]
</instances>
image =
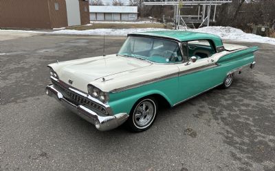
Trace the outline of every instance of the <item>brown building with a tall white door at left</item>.
<instances>
[{"instance_id":1,"label":"brown building with a tall white door at left","mask_svg":"<svg viewBox=\"0 0 275 171\"><path fill-rule=\"evenodd\" d=\"M89 22L87 0L0 0L1 28L52 29Z\"/></svg>"}]
</instances>

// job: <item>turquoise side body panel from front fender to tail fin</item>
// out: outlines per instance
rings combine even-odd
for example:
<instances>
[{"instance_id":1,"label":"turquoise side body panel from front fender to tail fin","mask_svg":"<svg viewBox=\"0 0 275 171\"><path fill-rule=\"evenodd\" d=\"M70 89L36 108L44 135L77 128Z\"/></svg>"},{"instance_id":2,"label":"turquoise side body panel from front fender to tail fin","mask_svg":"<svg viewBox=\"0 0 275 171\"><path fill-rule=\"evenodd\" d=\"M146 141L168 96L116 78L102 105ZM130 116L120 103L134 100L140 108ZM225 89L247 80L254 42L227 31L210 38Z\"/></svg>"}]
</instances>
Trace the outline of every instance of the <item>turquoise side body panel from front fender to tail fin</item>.
<instances>
[{"instance_id":1,"label":"turquoise side body panel from front fender to tail fin","mask_svg":"<svg viewBox=\"0 0 275 171\"><path fill-rule=\"evenodd\" d=\"M124 112L129 114L133 105L140 98L151 94L160 94L166 98L170 106L173 106L175 103L184 101L223 83L223 80L231 70L254 62L253 53L257 50L258 47L251 47L236 51L221 57L217 61L218 65L213 68L149 83L118 93L111 93L109 105L113 109L114 114Z\"/></svg>"}]
</instances>

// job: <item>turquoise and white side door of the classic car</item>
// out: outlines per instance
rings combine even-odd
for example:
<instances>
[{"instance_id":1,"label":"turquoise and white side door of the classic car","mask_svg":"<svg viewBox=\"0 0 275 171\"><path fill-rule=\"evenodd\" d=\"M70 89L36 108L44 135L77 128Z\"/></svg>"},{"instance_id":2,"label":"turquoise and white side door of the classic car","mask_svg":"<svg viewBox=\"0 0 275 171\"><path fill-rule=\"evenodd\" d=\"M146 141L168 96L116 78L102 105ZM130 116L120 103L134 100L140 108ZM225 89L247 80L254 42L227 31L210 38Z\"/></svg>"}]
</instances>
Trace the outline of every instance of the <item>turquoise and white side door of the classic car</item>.
<instances>
[{"instance_id":1,"label":"turquoise and white side door of the classic car","mask_svg":"<svg viewBox=\"0 0 275 171\"><path fill-rule=\"evenodd\" d=\"M179 68L179 101L184 101L192 96L217 86L216 77L214 75L214 68L217 66L214 60L215 52L213 51L211 54L212 49L210 49L210 55L208 54L207 57L199 58L199 56L197 56L197 60L195 62L188 62L191 57L190 55L194 55L194 49L189 49L188 45L190 46L187 42L182 46L185 55L184 58L187 61L177 64ZM199 49L200 53L203 52L203 50L201 50L203 48ZM188 54L190 52L192 52L192 54Z\"/></svg>"}]
</instances>

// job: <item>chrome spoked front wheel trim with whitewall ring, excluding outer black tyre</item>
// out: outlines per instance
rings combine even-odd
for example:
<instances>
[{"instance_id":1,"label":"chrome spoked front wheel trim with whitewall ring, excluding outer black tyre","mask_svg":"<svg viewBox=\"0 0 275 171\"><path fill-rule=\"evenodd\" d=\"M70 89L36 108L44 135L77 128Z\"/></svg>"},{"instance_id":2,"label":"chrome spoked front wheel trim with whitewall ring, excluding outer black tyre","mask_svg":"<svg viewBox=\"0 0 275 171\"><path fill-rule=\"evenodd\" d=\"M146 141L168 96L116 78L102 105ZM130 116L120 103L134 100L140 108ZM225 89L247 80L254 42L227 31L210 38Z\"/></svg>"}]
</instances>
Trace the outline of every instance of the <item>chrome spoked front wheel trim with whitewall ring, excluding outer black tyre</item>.
<instances>
[{"instance_id":1,"label":"chrome spoked front wheel trim with whitewall ring, excluding outer black tyre","mask_svg":"<svg viewBox=\"0 0 275 171\"><path fill-rule=\"evenodd\" d=\"M155 102L149 98L144 99L135 106L133 111L133 124L138 129L145 129L153 122L156 114Z\"/></svg>"}]
</instances>

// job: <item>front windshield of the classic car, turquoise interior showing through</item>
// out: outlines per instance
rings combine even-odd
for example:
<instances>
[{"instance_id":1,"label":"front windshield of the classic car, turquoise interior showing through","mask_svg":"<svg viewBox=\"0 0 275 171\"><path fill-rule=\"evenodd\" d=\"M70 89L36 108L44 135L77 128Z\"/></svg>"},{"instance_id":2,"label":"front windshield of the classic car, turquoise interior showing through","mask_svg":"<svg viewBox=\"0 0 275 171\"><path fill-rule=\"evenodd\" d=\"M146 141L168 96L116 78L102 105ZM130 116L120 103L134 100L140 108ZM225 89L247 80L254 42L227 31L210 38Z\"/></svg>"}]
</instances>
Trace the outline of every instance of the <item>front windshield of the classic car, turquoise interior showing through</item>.
<instances>
[{"instance_id":1,"label":"front windshield of the classic car, turquoise interior showing through","mask_svg":"<svg viewBox=\"0 0 275 171\"><path fill-rule=\"evenodd\" d=\"M135 57L161 64L181 62L179 44L172 40L130 36L118 55Z\"/></svg>"}]
</instances>

